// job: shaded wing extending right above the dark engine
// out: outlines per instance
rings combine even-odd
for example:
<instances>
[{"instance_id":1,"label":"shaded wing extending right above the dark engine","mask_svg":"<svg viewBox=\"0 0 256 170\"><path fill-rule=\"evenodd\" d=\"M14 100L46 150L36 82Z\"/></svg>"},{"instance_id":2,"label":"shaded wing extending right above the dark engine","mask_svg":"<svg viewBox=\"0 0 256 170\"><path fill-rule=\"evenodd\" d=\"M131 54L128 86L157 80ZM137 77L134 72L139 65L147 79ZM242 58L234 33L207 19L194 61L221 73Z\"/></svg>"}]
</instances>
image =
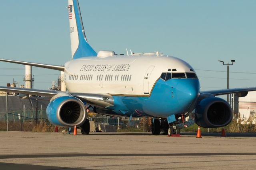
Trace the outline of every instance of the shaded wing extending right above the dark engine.
<instances>
[{"instance_id":1,"label":"shaded wing extending right above the dark engine","mask_svg":"<svg viewBox=\"0 0 256 170\"><path fill-rule=\"evenodd\" d=\"M231 93L238 93L240 96L246 96L248 91L256 91L256 87L245 87L245 88L236 88L236 89L221 89L221 90L209 90L201 91L200 93L210 93L214 96L226 95Z\"/></svg>"}]
</instances>

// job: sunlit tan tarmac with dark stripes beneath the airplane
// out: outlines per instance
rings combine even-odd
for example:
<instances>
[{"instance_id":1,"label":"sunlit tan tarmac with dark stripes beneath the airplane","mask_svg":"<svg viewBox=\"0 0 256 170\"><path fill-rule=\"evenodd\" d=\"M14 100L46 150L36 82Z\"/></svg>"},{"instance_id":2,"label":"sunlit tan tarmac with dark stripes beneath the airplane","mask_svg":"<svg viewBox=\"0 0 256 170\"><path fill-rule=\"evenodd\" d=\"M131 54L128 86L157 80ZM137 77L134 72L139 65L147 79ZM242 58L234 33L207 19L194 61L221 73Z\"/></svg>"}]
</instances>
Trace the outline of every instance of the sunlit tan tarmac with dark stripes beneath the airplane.
<instances>
[{"instance_id":1,"label":"sunlit tan tarmac with dark stripes beneath the airplane","mask_svg":"<svg viewBox=\"0 0 256 170\"><path fill-rule=\"evenodd\" d=\"M0 132L1 170L217 168L255 169L256 133Z\"/></svg>"}]
</instances>

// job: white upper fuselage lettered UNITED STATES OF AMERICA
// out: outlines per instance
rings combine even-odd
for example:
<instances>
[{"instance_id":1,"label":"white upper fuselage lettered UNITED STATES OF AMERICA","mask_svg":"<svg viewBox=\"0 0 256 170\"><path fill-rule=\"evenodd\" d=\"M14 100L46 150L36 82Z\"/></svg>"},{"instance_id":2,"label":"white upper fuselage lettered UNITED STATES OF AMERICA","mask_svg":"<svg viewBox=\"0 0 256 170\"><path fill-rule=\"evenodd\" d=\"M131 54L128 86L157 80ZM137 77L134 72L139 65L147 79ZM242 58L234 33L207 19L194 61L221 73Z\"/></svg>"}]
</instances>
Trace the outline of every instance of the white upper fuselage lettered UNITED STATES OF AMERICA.
<instances>
[{"instance_id":1,"label":"white upper fuselage lettered UNITED STATES OF AMERICA","mask_svg":"<svg viewBox=\"0 0 256 170\"><path fill-rule=\"evenodd\" d=\"M154 66L152 73L145 75L150 66ZM176 69L176 73L192 72L192 67L182 59L166 55L83 57L65 63L65 82L68 91L74 93L148 95L144 93L145 88L150 93L162 72L172 72L168 69ZM78 79L70 80L70 75L78 75ZM81 75L91 75L92 80L80 80ZM102 81L97 80L99 75L103 75ZM106 75L112 76L112 80L105 80ZM118 80L115 80L117 75ZM121 80L122 75L126 80ZM145 81L145 76L148 81Z\"/></svg>"}]
</instances>

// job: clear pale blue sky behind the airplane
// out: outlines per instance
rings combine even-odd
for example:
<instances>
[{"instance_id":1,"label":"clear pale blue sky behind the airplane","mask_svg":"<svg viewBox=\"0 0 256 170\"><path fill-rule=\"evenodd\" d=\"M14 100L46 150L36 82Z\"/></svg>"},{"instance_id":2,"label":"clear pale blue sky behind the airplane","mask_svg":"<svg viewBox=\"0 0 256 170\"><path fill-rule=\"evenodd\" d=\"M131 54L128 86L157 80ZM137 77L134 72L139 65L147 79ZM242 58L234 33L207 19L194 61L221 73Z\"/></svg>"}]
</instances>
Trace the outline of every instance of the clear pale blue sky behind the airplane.
<instances>
[{"instance_id":1,"label":"clear pale blue sky behind the airplane","mask_svg":"<svg viewBox=\"0 0 256 170\"><path fill-rule=\"evenodd\" d=\"M0 58L62 65L71 59L67 0L1 0ZM202 90L256 86L255 0L80 0L90 45L125 53L159 50L184 59ZM212 70L212 71L205 71ZM246 72L246 73L233 73ZM254 74L248 74L254 73ZM0 85L20 84L24 66L0 62ZM48 89L59 71L33 67L34 88Z\"/></svg>"}]
</instances>

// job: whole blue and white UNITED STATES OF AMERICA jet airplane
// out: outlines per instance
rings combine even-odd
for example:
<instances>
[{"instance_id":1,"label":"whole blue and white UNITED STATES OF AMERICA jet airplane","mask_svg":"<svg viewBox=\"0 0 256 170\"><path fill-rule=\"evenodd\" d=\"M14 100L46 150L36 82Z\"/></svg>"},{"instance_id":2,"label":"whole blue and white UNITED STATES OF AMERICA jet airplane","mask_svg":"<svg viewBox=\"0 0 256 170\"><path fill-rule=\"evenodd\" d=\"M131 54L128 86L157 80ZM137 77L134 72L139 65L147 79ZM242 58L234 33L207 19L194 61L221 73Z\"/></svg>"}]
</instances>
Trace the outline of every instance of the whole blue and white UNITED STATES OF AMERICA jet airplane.
<instances>
[{"instance_id":1,"label":"whole blue and white UNITED STATES OF AMERICA jet airplane","mask_svg":"<svg viewBox=\"0 0 256 170\"><path fill-rule=\"evenodd\" d=\"M78 0L68 0L72 60L50 65L0 59L0 61L64 71L68 91L0 87L20 95L51 97L46 109L56 126L81 128L89 134L87 109L115 117L153 117L152 134L180 134L182 117L192 113L200 127L223 127L232 121L232 109L216 97L236 93L244 97L256 87L200 91L196 72L186 61L158 51L96 53L89 45Z\"/></svg>"}]
</instances>

